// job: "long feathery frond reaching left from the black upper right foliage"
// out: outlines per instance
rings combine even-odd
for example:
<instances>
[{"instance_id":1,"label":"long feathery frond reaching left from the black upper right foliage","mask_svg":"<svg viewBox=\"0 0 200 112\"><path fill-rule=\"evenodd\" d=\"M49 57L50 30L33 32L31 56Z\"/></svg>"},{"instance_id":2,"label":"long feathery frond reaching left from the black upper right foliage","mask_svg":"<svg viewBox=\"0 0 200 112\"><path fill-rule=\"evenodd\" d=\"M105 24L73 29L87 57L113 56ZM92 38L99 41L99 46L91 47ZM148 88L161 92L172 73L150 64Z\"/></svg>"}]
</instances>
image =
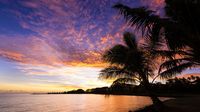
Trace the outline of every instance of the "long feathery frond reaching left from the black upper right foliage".
<instances>
[{"instance_id":1,"label":"long feathery frond reaching left from the black upper right foliage","mask_svg":"<svg viewBox=\"0 0 200 112\"><path fill-rule=\"evenodd\" d=\"M122 4L116 4L113 7L120 11L129 25L141 31L142 35L150 40L152 46L160 45L164 32L163 25L170 22L168 18L161 18L145 7L130 8Z\"/></svg>"}]
</instances>

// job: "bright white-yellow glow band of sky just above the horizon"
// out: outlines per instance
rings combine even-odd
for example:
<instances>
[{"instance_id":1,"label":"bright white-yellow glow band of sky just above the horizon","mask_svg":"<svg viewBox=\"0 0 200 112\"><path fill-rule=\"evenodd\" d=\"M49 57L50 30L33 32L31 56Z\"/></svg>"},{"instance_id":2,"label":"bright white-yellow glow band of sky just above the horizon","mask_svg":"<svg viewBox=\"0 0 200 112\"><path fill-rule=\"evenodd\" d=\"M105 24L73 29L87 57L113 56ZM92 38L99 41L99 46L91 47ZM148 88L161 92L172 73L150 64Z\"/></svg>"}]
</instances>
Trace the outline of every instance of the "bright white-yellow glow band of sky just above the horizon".
<instances>
[{"instance_id":1,"label":"bright white-yellow glow band of sky just above the horizon","mask_svg":"<svg viewBox=\"0 0 200 112\"><path fill-rule=\"evenodd\" d=\"M98 79L100 67L90 66L66 66L66 65L28 65L19 64L16 69L20 70L24 77L29 79L20 83L1 83L1 92L59 92L72 89L89 89L109 86L111 82Z\"/></svg>"}]
</instances>

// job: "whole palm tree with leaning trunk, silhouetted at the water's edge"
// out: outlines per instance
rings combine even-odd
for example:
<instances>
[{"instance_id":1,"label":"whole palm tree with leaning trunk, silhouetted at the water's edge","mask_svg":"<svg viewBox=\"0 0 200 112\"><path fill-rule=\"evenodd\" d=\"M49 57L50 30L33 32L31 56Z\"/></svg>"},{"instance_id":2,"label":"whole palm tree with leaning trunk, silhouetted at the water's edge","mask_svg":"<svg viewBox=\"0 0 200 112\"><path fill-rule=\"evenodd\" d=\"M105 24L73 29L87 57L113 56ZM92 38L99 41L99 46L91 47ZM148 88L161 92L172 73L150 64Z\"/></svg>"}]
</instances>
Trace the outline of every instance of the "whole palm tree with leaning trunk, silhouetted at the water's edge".
<instances>
[{"instance_id":1,"label":"whole palm tree with leaning trunk, silhouetted at the water's edge","mask_svg":"<svg viewBox=\"0 0 200 112\"><path fill-rule=\"evenodd\" d=\"M129 32L124 33L123 40L123 45L115 45L104 53L103 60L110 66L101 70L100 78L131 79L132 82L140 82L149 93L153 103L161 106L161 101L150 89L149 77L154 76L156 65L149 49L143 45L139 46L135 36Z\"/></svg>"}]
</instances>

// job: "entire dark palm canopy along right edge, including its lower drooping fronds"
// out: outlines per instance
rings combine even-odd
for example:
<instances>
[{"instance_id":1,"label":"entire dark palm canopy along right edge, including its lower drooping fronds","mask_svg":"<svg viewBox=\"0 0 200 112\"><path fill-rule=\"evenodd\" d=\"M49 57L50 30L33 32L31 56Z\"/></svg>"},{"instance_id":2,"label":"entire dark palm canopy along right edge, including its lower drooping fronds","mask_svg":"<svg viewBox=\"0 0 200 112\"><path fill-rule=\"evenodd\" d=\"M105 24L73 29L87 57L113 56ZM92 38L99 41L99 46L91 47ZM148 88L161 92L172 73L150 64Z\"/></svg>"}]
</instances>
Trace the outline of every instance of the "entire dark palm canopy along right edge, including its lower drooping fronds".
<instances>
[{"instance_id":1,"label":"entire dark palm canopy along right edge, including its lower drooping fronds","mask_svg":"<svg viewBox=\"0 0 200 112\"><path fill-rule=\"evenodd\" d=\"M149 38L155 53L167 57L158 76L170 78L200 64L200 1L165 0L165 3L166 17L145 7L116 4L114 8L131 26L136 26ZM168 50L157 50L163 40Z\"/></svg>"}]
</instances>

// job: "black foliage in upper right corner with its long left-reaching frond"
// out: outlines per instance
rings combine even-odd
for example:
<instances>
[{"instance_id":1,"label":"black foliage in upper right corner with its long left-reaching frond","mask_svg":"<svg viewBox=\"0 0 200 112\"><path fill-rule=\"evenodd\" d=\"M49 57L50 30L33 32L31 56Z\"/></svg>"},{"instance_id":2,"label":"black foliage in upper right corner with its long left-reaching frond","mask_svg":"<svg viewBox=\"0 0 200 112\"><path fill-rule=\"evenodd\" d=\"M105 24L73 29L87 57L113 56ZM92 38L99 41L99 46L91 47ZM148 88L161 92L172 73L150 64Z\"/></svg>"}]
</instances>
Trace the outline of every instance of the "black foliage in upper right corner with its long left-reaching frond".
<instances>
[{"instance_id":1,"label":"black foliage in upper right corner with its long left-reaching frond","mask_svg":"<svg viewBox=\"0 0 200 112\"><path fill-rule=\"evenodd\" d=\"M120 11L131 26L150 38L154 45L164 38L170 49L186 45L196 47L200 42L200 1L165 0L165 3L165 17L145 7L130 8L122 4L113 7Z\"/></svg>"}]
</instances>

